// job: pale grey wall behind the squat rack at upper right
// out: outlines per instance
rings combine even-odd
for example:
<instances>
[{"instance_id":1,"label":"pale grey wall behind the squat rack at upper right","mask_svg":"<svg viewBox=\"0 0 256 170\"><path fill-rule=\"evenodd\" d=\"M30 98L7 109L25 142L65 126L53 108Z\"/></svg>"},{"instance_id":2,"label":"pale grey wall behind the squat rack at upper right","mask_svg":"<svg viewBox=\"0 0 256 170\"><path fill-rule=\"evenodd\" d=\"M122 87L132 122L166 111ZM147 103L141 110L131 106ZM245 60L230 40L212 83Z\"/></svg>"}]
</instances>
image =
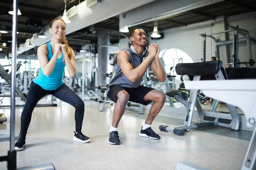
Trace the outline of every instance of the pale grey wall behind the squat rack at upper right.
<instances>
[{"instance_id":1,"label":"pale grey wall behind the squat rack at upper right","mask_svg":"<svg viewBox=\"0 0 256 170\"><path fill-rule=\"evenodd\" d=\"M250 37L256 39L256 12L249 12L245 14L234 15L231 17L227 17L227 23L235 26L238 25L239 28L246 29L250 32ZM223 31L224 30L224 18L218 17L215 21L212 21L212 32ZM230 29L230 28L229 28ZM160 49L166 48L178 48L186 54L188 54L194 62L200 62L201 57L201 36L199 34L206 32L207 34L211 34L211 20L191 24L188 26L182 26L177 28L171 28L163 32L164 38L160 40L151 40L150 43L157 43L160 46ZM233 33L230 32L229 40L233 40ZM151 32L148 33L151 35ZM216 34L214 37L217 40L224 41L224 34ZM239 34L239 38L244 38L241 34ZM212 56L215 56L214 47L211 48L211 39L207 38L206 44L206 60L209 61ZM120 45L122 46L122 45ZM256 60L256 44L251 42L252 55L253 59ZM227 62L227 54L226 54L226 46L220 46L220 58L223 62ZM230 45L230 55L232 55L232 45ZM248 60L248 52L246 42L239 44L239 59L240 61Z\"/></svg>"}]
</instances>

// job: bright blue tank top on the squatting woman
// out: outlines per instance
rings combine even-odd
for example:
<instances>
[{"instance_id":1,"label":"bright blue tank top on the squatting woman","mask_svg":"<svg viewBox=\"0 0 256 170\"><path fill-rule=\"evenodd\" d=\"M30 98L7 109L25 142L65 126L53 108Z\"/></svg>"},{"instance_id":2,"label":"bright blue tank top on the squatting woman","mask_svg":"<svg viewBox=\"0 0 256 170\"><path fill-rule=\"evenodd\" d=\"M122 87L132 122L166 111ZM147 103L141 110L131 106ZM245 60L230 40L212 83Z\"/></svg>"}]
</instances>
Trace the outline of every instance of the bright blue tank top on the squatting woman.
<instances>
[{"instance_id":1,"label":"bright blue tank top on the squatting woman","mask_svg":"<svg viewBox=\"0 0 256 170\"><path fill-rule=\"evenodd\" d=\"M52 48L50 41L46 44L48 49L48 61L52 58ZM61 55L61 58L57 59L55 68L53 69L52 73L46 77L42 71L42 68L40 67L40 72L38 77L36 77L33 82L35 84L38 84L43 88L44 90L56 90L57 88L61 87L63 84L62 78L65 68L65 63L63 62L63 54Z\"/></svg>"}]
</instances>

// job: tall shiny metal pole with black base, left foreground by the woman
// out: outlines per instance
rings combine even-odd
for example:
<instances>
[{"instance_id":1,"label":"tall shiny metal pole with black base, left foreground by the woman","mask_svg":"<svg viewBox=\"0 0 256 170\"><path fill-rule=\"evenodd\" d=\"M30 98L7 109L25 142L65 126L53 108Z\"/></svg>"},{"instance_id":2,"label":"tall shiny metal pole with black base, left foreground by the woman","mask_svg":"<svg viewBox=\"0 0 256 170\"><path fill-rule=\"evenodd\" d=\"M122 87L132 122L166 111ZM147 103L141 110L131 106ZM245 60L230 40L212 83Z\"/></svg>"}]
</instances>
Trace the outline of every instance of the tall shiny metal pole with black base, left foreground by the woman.
<instances>
[{"instance_id":1,"label":"tall shiny metal pole with black base, left foreground by the woman","mask_svg":"<svg viewBox=\"0 0 256 170\"><path fill-rule=\"evenodd\" d=\"M8 151L8 169L17 168L17 156L15 147L15 91L16 91L16 60L17 60L17 9L18 0L13 0L12 15L12 85L11 85L11 127L10 150Z\"/></svg>"}]
</instances>

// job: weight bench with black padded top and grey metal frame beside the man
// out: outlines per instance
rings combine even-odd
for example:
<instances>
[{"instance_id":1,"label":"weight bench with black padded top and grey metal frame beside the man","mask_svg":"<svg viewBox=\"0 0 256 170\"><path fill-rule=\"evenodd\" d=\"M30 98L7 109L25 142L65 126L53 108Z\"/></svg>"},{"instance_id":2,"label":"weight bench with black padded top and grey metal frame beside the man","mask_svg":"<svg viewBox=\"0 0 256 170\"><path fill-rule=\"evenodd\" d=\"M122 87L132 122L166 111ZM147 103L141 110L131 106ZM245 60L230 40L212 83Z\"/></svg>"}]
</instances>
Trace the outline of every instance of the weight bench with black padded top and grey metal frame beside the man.
<instances>
[{"instance_id":1,"label":"weight bench with black padded top and grey metal frame beside the man","mask_svg":"<svg viewBox=\"0 0 256 170\"><path fill-rule=\"evenodd\" d=\"M227 74L224 65L221 61L209 61L209 62L195 62L195 63L179 63L176 65L176 73L178 75L188 75L190 80L198 82L201 80L226 80ZM185 86L186 87L186 86ZM188 87L186 87L189 89ZM184 135L185 131L200 127L210 126L222 126L228 127L231 130L239 131L240 118L237 113L236 107L227 104L232 119L223 119L218 117L206 116L202 109L200 102L197 98L198 89L192 89L190 94L186 94L182 91L167 91L166 95L174 97L177 101L181 102L186 108L186 115L184 124L177 127L168 127L160 125L161 131L173 132L177 135ZM192 124L194 109L198 111L198 122Z\"/></svg>"}]
</instances>

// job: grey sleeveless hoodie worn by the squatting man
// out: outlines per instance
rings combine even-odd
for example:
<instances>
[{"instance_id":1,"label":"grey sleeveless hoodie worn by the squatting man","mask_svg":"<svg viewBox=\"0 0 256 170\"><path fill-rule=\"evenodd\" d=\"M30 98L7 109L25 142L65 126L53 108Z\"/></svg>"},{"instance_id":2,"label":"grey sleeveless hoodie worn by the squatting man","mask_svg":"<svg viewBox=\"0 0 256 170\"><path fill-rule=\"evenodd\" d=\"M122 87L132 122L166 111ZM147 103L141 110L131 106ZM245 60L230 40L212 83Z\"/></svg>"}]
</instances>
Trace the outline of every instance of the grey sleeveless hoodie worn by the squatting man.
<instances>
[{"instance_id":1,"label":"grey sleeveless hoodie worn by the squatting man","mask_svg":"<svg viewBox=\"0 0 256 170\"><path fill-rule=\"evenodd\" d=\"M127 43L123 48L123 51L125 51L129 56L129 62L134 68L137 68L141 62L145 59L145 57L148 56L148 50L144 47L143 49L143 55L139 55L136 53L135 50L131 49L131 43ZM117 55L115 57L115 63L117 60ZM143 74L144 76L144 74ZM141 76L139 79L136 80L136 82L131 82L127 77L125 77L125 74L123 74L121 67L116 64L116 74L109 83L109 86L111 85L120 85L122 87L127 88L137 88L140 86L140 83L142 82L143 76ZM109 91L109 86L107 91Z\"/></svg>"}]
</instances>

